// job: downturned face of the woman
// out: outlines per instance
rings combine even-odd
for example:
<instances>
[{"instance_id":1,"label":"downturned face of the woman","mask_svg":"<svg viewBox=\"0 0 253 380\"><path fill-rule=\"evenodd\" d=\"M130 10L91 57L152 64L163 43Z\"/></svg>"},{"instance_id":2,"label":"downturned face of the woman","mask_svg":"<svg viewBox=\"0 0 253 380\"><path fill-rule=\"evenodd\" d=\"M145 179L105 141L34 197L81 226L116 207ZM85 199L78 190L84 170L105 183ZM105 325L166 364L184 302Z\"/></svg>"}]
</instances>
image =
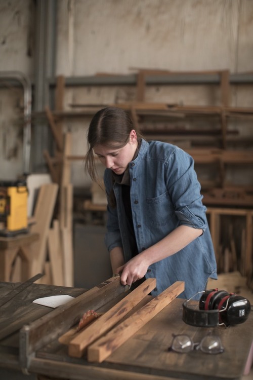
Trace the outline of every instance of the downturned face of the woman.
<instances>
[{"instance_id":1,"label":"downturned face of the woman","mask_svg":"<svg viewBox=\"0 0 253 380\"><path fill-rule=\"evenodd\" d=\"M137 136L133 129L130 132L129 142L122 148L112 149L99 144L94 147L94 153L107 169L111 169L115 174L122 174L133 160L137 146Z\"/></svg>"}]
</instances>

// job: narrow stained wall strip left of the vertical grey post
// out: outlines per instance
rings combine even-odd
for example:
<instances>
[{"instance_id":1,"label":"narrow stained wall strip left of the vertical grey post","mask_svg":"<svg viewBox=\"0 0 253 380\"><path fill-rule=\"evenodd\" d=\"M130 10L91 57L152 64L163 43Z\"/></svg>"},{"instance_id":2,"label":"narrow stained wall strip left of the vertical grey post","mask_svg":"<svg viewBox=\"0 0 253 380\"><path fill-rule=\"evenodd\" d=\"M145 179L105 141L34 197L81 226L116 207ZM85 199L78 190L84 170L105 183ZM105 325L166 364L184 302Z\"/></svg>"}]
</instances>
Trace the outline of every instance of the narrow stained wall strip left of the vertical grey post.
<instances>
[{"instance_id":1,"label":"narrow stained wall strip left of the vertical grey post","mask_svg":"<svg viewBox=\"0 0 253 380\"><path fill-rule=\"evenodd\" d=\"M12 87L6 71L33 77L33 2L0 1L0 179L23 173L24 91Z\"/></svg>"}]
</instances>

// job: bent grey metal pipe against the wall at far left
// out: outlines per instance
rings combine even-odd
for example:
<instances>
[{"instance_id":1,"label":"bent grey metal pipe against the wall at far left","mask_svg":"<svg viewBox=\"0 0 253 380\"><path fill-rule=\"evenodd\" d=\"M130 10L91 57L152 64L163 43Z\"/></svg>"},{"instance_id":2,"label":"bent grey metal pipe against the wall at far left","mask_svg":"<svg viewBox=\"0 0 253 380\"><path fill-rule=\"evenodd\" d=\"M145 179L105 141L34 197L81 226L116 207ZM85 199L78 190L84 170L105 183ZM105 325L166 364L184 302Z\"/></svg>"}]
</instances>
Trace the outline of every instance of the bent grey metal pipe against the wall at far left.
<instances>
[{"instance_id":1,"label":"bent grey metal pipe against the wall at far left","mask_svg":"<svg viewBox=\"0 0 253 380\"><path fill-rule=\"evenodd\" d=\"M20 71L0 71L0 80L17 81L24 90L23 170L29 173L31 151L31 101L32 90L28 77Z\"/></svg>"}]
</instances>

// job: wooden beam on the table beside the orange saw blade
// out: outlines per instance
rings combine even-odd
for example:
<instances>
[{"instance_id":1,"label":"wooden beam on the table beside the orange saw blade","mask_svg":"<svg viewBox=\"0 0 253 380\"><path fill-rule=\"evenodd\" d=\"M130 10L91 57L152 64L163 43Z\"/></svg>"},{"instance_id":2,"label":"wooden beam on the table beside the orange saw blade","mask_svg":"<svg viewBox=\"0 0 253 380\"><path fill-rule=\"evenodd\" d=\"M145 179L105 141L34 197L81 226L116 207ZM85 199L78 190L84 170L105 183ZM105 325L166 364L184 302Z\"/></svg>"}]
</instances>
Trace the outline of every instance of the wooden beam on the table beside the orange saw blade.
<instances>
[{"instance_id":1,"label":"wooden beam on the table beside the orange saw blade","mask_svg":"<svg viewBox=\"0 0 253 380\"><path fill-rule=\"evenodd\" d=\"M81 331L68 345L69 356L80 358L91 343L109 331L110 328L129 313L144 296L148 295L155 286L155 279L147 279L108 312L99 317L92 325Z\"/></svg>"}]
</instances>

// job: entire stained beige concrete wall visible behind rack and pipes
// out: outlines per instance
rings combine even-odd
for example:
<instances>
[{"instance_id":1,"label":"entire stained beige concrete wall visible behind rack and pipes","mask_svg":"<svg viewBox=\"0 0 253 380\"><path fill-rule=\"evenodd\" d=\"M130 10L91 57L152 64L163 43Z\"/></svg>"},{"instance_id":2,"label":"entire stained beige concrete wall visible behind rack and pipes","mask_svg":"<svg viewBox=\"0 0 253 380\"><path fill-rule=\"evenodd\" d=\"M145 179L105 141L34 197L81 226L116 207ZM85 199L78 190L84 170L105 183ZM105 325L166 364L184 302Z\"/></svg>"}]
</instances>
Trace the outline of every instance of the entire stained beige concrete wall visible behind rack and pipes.
<instances>
[{"instance_id":1,"label":"entire stained beige concrete wall visible behind rack and pipes","mask_svg":"<svg viewBox=\"0 0 253 380\"><path fill-rule=\"evenodd\" d=\"M33 81L33 1L1 1L0 21L0 71L19 70ZM55 72L69 77L129 74L136 68L252 71L252 35L251 0L60 0ZM233 86L231 105L252 107L252 88ZM22 113L22 91L15 96L13 89L6 91L0 88L0 178L13 178L22 172L22 133L16 123ZM109 104L135 96L131 86L68 88L64 105L71 109L71 103ZM146 100L219 104L220 93L218 86L149 86ZM76 155L85 154L89 121L64 123L65 130L72 131ZM72 164L72 181L89 185L82 162Z\"/></svg>"}]
</instances>

